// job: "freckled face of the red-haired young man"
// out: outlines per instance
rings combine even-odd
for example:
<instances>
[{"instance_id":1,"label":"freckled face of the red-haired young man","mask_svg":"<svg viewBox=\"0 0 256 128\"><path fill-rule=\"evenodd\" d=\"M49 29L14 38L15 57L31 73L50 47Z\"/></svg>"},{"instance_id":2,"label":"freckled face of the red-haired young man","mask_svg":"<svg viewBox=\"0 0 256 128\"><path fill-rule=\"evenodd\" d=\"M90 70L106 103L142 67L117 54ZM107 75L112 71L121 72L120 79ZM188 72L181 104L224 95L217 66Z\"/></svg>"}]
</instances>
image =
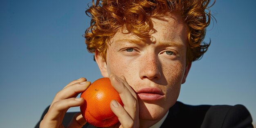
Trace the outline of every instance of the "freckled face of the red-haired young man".
<instances>
[{"instance_id":1,"label":"freckled face of the red-haired young man","mask_svg":"<svg viewBox=\"0 0 256 128\"><path fill-rule=\"evenodd\" d=\"M117 32L107 49L108 75L125 76L135 92L153 89L159 93L152 95L155 99L150 99L147 92L137 95L141 120L161 119L177 101L185 79L186 25L178 14L164 16L152 18L153 38L139 40L132 34Z\"/></svg>"}]
</instances>

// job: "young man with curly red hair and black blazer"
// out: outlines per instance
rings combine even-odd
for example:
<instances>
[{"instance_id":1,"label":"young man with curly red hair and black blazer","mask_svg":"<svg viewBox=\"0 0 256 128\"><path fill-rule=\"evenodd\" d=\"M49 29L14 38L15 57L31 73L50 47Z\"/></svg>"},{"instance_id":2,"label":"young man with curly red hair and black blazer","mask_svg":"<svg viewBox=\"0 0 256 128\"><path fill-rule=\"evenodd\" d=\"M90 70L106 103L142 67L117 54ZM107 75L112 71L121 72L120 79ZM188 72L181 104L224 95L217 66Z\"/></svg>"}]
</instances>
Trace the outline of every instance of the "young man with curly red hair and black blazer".
<instances>
[{"instance_id":1,"label":"young man with curly red hair and black blazer","mask_svg":"<svg viewBox=\"0 0 256 128\"><path fill-rule=\"evenodd\" d=\"M202 43L210 14L209 0L97 0L86 12L88 50L103 77L110 77L124 103L112 101L119 128L250 128L247 109L237 106L188 106L177 102L192 61L207 51ZM89 14L90 13L90 14ZM81 128L81 106L75 98L90 82L81 78L56 94L40 128ZM70 118L71 115L74 117ZM91 128L86 124L84 127Z\"/></svg>"}]
</instances>

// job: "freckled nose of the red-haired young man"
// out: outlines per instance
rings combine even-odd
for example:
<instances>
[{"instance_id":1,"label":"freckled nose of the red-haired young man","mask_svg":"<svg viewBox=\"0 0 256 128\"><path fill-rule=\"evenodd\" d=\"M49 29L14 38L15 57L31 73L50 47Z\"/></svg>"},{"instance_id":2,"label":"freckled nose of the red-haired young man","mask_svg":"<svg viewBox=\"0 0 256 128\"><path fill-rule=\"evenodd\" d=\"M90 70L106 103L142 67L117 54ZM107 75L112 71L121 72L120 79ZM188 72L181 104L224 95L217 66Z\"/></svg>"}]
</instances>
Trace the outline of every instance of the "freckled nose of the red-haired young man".
<instances>
[{"instance_id":1,"label":"freckled nose of the red-haired young man","mask_svg":"<svg viewBox=\"0 0 256 128\"><path fill-rule=\"evenodd\" d=\"M150 54L141 58L139 76L141 79L160 79L161 68L161 63L159 62L157 55Z\"/></svg>"}]
</instances>

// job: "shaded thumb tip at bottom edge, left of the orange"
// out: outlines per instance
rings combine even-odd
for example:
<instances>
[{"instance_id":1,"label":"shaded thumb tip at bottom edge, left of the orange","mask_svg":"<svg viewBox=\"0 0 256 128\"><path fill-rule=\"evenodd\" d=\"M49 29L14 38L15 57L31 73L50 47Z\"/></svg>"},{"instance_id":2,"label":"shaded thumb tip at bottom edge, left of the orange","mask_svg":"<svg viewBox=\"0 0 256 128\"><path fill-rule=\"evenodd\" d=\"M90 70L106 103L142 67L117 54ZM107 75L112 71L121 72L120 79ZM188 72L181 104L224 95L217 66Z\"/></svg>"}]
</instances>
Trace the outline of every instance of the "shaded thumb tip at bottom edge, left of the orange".
<instances>
[{"instance_id":1,"label":"shaded thumb tip at bottom edge, left of the orange","mask_svg":"<svg viewBox=\"0 0 256 128\"><path fill-rule=\"evenodd\" d=\"M78 112L74 115L72 121L70 121L66 128L82 128L85 124L86 121L83 119L81 112Z\"/></svg>"}]
</instances>

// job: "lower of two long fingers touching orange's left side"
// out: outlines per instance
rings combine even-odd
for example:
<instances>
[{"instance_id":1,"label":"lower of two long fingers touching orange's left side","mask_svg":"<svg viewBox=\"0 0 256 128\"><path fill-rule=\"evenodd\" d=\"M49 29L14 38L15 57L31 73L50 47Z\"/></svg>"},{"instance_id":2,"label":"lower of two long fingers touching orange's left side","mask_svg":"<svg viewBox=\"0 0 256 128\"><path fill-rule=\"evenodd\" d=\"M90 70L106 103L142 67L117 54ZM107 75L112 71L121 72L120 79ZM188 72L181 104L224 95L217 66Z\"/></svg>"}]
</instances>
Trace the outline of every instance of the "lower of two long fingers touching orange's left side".
<instances>
[{"instance_id":1,"label":"lower of two long fingers touching orange's left side","mask_svg":"<svg viewBox=\"0 0 256 128\"><path fill-rule=\"evenodd\" d=\"M56 101L52 104L52 107L49 108L47 115L45 115L45 121L55 121L61 114L67 112L71 107L81 106L84 102L83 98L70 98Z\"/></svg>"}]
</instances>

